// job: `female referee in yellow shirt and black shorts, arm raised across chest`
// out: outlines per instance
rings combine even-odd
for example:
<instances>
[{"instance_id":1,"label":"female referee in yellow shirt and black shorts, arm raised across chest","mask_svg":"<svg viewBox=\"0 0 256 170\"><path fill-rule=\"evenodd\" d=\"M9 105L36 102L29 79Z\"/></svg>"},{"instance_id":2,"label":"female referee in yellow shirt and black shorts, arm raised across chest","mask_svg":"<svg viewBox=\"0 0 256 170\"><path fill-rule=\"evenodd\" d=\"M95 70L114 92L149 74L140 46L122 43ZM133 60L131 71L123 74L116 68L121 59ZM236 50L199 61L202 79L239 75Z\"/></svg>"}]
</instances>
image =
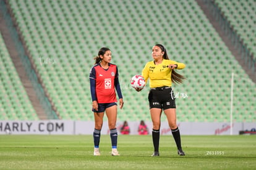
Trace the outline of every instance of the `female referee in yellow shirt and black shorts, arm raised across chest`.
<instances>
[{"instance_id":1,"label":"female referee in yellow shirt and black shorts, arm raised across chest","mask_svg":"<svg viewBox=\"0 0 256 170\"><path fill-rule=\"evenodd\" d=\"M147 62L142 70L142 76L147 81L150 79L150 93L148 101L150 105L150 115L153 122L152 139L154 153L151 156L159 156L159 139L162 110L168 119L169 127L177 145L178 155L184 156L181 147L181 135L176 124L176 104L171 88L171 83L182 83L185 79L177 74L174 69L184 69L186 66L181 62L171 61L163 45L157 44L152 48L153 61ZM142 89L135 89L140 91Z\"/></svg>"}]
</instances>

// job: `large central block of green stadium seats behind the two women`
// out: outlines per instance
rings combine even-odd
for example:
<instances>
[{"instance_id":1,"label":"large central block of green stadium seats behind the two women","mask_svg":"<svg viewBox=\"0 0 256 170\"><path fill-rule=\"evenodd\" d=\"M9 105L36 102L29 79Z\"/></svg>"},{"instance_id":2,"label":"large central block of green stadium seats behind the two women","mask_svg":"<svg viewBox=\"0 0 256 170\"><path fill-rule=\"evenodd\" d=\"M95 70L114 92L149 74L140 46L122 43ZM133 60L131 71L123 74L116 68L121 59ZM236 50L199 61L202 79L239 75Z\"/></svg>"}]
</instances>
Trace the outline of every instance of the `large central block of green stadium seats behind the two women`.
<instances>
[{"instance_id":1,"label":"large central block of green stadium seats behind the two women","mask_svg":"<svg viewBox=\"0 0 256 170\"><path fill-rule=\"evenodd\" d=\"M229 121L224 115L229 111L231 73L251 80L197 2L158 1L156 6L164 12L152 9L152 3L155 1L9 1L23 40L37 61L36 68L62 119L93 120L88 74L94 64L93 56L101 46L108 46L113 52L113 63L119 68L127 103L119 110L118 119L150 120L148 87L137 93L130 88L130 78L140 74L145 63L152 59L151 47L163 43L170 59L187 64L186 69L179 70L187 80L182 85L173 85L179 94L186 92L189 96L179 96L176 100L179 121ZM101 6L109 11L98 12ZM56 64L41 66L40 54L55 59ZM216 64L225 67L216 69ZM235 85L240 85L239 89L246 87L245 83L235 82ZM254 91L255 84L246 88L249 90L242 93ZM234 96L239 95L239 91L234 92ZM247 97L255 101L254 94ZM239 98L234 102L239 103ZM213 109L213 106L218 107ZM252 116L246 121L255 121L252 114L255 106L245 103L242 106ZM244 121L244 117L238 118L237 121Z\"/></svg>"}]
</instances>

